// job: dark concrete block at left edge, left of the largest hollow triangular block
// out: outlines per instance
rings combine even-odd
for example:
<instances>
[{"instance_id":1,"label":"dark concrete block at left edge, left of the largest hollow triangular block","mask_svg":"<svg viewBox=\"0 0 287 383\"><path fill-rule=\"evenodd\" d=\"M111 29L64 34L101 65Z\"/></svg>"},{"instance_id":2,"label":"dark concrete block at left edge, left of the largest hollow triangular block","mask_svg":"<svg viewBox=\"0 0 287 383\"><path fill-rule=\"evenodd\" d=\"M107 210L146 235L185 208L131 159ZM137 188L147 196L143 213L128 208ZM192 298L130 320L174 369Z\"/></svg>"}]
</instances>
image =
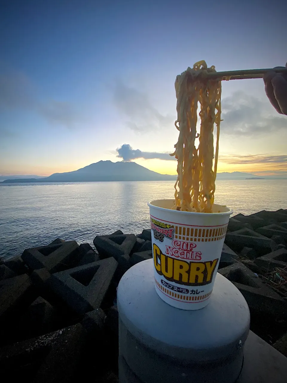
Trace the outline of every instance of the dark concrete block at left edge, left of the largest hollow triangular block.
<instances>
[{"instance_id":1,"label":"dark concrete block at left edge, left of the largest hollow triangular block","mask_svg":"<svg viewBox=\"0 0 287 383\"><path fill-rule=\"evenodd\" d=\"M0 281L0 318L33 301L33 285L27 274Z\"/></svg>"}]
</instances>

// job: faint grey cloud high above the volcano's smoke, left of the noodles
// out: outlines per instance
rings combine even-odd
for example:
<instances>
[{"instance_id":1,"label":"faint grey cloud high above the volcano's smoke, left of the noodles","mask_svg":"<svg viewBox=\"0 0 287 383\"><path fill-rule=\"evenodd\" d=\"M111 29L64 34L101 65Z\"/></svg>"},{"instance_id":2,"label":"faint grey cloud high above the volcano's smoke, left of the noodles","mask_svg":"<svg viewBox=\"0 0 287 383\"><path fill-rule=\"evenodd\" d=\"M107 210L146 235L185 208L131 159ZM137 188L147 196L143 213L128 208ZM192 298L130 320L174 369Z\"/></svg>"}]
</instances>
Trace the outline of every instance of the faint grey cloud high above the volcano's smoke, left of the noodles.
<instances>
[{"instance_id":1,"label":"faint grey cloud high above the volcano's smoke, left of the noodles","mask_svg":"<svg viewBox=\"0 0 287 383\"><path fill-rule=\"evenodd\" d=\"M163 116L152 106L148 95L117 82L114 88L114 105L126 116L126 125L137 132L173 126L175 118Z\"/></svg>"}]
</instances>

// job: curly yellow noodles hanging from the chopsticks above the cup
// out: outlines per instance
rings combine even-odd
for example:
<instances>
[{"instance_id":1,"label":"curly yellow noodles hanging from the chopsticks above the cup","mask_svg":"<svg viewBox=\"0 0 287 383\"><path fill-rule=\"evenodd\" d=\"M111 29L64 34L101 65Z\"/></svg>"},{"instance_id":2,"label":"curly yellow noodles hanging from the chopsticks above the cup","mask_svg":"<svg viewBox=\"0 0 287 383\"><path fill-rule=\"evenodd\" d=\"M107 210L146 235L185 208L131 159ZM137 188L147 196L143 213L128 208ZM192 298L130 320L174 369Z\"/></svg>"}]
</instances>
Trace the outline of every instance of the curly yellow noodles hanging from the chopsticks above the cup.
<instances>
[{"instance_id":1,"label":"curly yellow noodles hanging from the chopsticks above the cup","mask_svg":"<svg viewBox=\"0 0 287 383\"><path fill-rule=\"evenodd\" d=\"M204 80L204 72L215 72L215 67L207 68L205 61L196 62L192 69L178 75L174 84L178 115L175 126L179 137L171 154L178 160L173 209L211 213L219 149L221 81ZM202 76L198 77L199 74ZM198 102L201 105L199 134L196 131ZM215 157L214 123L217 126ZM196 138L199 138L197 148Z\"/></svg>"}]
</instances>

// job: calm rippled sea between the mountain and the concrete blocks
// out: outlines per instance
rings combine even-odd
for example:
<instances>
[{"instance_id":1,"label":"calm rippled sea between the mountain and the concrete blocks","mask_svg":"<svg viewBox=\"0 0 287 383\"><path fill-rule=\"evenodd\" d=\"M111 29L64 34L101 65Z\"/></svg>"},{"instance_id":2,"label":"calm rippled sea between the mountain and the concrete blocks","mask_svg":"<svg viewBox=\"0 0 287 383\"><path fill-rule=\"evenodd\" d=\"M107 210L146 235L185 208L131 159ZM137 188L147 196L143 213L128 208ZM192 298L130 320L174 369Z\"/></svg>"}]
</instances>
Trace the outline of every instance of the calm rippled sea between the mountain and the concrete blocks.
<instances>
[{"instance_id":1,"label":"calm rippled sea between the mountain and the concrete blocks","mask_svg":"<svg viewBox=\"0 0 287 383\"><path fill-rule=\"evenodd\" d=\"M0 184L0 257L59 237L88 242L149 227L147 202L173 198L173 181ZM217 181L215 201L234 214L287 208L287 180Z\"/></svg>"}]
</instances>

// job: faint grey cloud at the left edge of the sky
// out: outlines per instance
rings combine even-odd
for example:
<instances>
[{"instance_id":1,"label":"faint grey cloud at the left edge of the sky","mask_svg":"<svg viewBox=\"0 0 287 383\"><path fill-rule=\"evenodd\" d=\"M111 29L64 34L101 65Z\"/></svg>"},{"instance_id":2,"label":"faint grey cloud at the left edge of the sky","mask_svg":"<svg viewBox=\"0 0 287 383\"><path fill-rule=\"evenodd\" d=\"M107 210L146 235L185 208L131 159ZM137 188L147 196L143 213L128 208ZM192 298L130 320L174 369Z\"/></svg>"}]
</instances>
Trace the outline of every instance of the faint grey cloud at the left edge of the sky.
<instances>
[{"instance_id":1,"label":"faint grey cloud at the left edge of the sky","mask_svg":"<svg viewBox=\"0 0 287 383\"><path fill-rule=\"evenodd\" d=\"M59 100L39 100L31 81L21 72L2 70L0 74L0 109L28 110L49 123L68 128L80 120L75 106Z\"/></svg>"}]
</instances>

